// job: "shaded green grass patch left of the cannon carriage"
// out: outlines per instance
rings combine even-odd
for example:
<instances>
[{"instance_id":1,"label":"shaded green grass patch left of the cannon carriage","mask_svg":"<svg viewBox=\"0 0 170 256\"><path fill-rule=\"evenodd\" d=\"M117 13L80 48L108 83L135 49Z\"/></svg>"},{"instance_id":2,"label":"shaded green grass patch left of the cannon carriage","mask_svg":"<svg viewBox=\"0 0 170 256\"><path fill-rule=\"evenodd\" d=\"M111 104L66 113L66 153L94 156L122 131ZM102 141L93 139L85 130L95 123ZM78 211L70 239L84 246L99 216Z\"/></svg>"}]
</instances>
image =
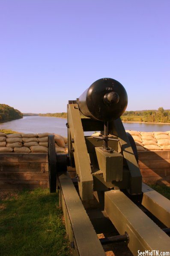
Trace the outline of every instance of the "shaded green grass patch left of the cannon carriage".
<instances>
[{"instance_id":1,"label":"shaded green grass patch left of the cannon carriage","mask_svg":"<svg viewBox=\"0 0 170 256\"><path fill-rule=\"evenodd\" d=\"M0 255L71 255L58 201L48 189L0 200Z\"/></svg>"}]
</instances>

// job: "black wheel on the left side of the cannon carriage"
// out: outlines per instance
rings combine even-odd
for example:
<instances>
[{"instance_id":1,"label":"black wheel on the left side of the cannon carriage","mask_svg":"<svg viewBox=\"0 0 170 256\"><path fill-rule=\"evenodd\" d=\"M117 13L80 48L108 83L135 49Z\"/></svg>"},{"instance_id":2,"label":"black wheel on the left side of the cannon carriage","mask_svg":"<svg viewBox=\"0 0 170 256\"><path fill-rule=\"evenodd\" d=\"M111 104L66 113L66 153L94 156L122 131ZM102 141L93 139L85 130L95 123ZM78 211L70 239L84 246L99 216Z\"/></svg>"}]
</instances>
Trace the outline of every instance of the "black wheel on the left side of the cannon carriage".
<instances>
[{"instance_id":1,"label":"black wheel on the left side of the cannon carriage","mask_svg":"<svg viewBox=\"0 0 170 256\"><path fill-rule=\"evenodd\" d=\"M55 193L57 187L57 166L54 135L48 135L48 174L50 193Z\"/></svg>"}]
</instances>

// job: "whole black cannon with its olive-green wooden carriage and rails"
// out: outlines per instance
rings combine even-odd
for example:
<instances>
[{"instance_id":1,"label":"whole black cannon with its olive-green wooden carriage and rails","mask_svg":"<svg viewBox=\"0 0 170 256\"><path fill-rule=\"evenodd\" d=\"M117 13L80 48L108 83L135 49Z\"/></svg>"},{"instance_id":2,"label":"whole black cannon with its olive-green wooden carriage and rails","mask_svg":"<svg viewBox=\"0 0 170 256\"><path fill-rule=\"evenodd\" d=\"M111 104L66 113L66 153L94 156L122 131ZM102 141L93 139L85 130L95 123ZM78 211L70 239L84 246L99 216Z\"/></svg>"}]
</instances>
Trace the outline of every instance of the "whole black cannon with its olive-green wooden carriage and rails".
<instances>
[{"instance_id":1,"label":"whole black cannon with its olive-green wooden carriage and rails","mask_svg":"<svg viewBox=\"0 0 170 256\"><path fill-rule=\"evenodd\" d=\"M135 143L120 119L127 104L121 83L99 79L69 100L68 154L56 154L54 136L48 136L50 191L59 191L73 255L105 255L102 244L114 241L125 241L133 255L169 251L170 203L142 182ZM85 136L87 131L99 133ZM69 176L68 166L75 168L75 177ZM90 209L98 209L101 226L109 222L118 235L98 239L99 223ZM141 209L155 215L161 228Z\"/></svg>"}]
</instances>

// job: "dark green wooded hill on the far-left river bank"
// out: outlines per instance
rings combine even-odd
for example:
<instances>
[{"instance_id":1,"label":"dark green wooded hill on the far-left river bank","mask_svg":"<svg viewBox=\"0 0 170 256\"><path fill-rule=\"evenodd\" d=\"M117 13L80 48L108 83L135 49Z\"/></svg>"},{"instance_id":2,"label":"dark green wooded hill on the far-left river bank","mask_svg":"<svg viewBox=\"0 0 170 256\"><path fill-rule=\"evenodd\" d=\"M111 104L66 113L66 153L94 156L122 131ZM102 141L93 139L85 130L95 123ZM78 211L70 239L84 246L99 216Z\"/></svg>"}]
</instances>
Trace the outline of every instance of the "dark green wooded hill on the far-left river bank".
<instances>
[{"instance_id":1,"label":"dark green wooded hill on the far-left river bank","mask_svg":"<svg viewBox=\"0 0 170 256\"><path fill-rule=\"evenodd\" d=\"M15 108L6 104L0 104L0 122L6 122L10 120L20 119L23 114Z\"/></svg>"}]
</instances>

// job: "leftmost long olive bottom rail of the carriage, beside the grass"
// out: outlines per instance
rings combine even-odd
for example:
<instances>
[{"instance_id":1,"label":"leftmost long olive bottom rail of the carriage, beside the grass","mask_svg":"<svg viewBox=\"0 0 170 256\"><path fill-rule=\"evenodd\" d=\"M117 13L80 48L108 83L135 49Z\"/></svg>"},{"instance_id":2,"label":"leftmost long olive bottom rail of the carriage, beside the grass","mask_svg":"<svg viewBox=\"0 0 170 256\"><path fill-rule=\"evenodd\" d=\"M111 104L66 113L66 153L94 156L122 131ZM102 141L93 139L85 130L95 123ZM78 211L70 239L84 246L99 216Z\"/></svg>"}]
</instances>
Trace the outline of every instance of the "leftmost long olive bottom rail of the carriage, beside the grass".
<instances>
[{"instance_id":1,"label":"leftmost long olive bottom rail of the carriage, beside the grass","mask_svg":"<svg viewBox=\"0 0 170 256\"><path fill-rule=\"evenodd\" d=\"M66 174L60 175L60 200L66 219L66 231L74 242L73 255L105 256L97 234L89 220L80 197Z\"/></svg>"}]
</instances>

